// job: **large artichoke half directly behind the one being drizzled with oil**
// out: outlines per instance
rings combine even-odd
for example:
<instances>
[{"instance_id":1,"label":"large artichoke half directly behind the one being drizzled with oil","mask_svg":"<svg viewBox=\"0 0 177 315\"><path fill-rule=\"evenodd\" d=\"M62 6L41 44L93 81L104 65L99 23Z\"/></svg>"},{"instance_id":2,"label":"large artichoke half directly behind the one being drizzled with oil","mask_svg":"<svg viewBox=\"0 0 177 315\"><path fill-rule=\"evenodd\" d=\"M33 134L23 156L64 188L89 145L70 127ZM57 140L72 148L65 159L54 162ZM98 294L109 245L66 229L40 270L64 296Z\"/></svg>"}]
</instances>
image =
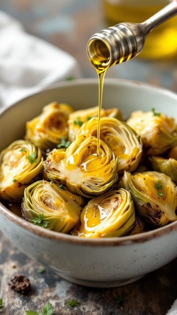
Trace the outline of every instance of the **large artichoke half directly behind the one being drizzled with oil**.
<instances>
[{"instance_id":1,"label":"large artichoke half directly behind the one being drizzled with oil","mask_svg":"<svg viewBox=\"0 0 177 315\"><path fill-rule=\"evenodd\" d=\"M77 139L97 137L97 128L98 118L90 119L79 129ZM100 139L117 155L119 175L137 168L142 154L142 141L126 123L116 118L100 118Z\"/></svg>"}]
</instances>

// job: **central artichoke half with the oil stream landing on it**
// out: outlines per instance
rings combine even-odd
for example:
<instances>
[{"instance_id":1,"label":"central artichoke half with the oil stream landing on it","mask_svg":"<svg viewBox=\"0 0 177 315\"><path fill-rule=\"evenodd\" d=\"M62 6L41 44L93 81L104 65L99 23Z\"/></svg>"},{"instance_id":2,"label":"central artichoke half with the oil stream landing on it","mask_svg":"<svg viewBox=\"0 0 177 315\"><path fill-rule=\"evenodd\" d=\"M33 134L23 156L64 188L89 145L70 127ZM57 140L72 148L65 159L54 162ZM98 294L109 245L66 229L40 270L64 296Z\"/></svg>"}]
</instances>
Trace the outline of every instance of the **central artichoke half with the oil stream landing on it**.
<instances>
[{"instance_id":1,"label":"central artichoke half with the oil stream landing on it","mask_svg":"<svg viewBox=\"0 0 177 315\"><path fill-rule=\"evenodd\" d=\"M65 159L60 161L58 151L51 152L43 163L50 180L62 183L71 192L88 198L111 189L117 182L118 159L110 148L100 140L97 156L97 139L89 137L71 143Z\"/></svg>"}]
</instances>

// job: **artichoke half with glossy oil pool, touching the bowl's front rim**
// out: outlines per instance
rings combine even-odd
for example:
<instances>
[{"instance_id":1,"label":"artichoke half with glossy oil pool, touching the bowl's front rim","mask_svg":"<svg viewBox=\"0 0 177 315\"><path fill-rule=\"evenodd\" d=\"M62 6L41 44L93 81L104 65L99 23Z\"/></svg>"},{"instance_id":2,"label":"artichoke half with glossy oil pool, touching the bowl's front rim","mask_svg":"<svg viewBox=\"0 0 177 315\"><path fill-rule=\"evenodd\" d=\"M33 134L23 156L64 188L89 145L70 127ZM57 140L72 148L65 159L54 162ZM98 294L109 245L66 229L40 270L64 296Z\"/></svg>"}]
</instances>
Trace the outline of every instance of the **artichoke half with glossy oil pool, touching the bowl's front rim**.
<instances>
[{"instance_id":1,"label":"artichoke half with glossy oil pool, touching the bowl's front rim","mask_svg":"<svg viewBox=\"0 0 177 315\"><path fill-rule=\"evenodd\" d=\"M119 189L93 198L81 212L80 221L71 231L72 235L98 238L128 234L135 224L130 193Z\"/></svg>"}]
</instances>

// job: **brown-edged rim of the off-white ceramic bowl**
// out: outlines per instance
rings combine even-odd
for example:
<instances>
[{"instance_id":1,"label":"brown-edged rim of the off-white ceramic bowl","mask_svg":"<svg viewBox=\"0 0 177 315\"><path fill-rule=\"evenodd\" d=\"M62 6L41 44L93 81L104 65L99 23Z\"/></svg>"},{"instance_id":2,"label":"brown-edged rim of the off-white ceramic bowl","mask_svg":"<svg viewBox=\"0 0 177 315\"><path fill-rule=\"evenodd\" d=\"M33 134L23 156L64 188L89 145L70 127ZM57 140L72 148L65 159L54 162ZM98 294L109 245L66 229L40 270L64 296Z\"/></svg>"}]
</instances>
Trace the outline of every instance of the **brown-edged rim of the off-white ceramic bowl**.
<instances>
[{"instance_id":1,"label":"brown-edged rim of the off-white ceramic bowl","mask_svg":"<svg viewBox=\"0 0 177 315\"><path fill-rule=\"evenodd\" d=\"M78 84L79 85L93 84L96 82L98 82L98 79L96 78L82 78L82 79L75 79L72 81L63 81L59 83L54 83L48 86L47 88L41 90L40 92L29 95L28 97L12 104L11 106L0 110L0 116L2 116L3 113L8 111L12 106L16 106L18 103L23 102L25 99L30 98L33 95L37 95L37 94L40 95L43 93L43 91L47 89L57 89L60 86L63 87L67 85L73 86L73 85L78 85ZM151 85L145 82L132 81L132 80L126 80L126 79L119 79L119 78L106 78L105 82L110 83L110 84L111 83L113 84L118 83L118 84L123 84L123 85L126 84L131 87L140 85L146 89L160 91L162 94L173 96L174 98L177 99L177 94L175 92L172 92L168 89L164 89L161 87L156 87L154 85ZM177 230L177 221L175 221L173 223L170 223L169 225L157 228L156 230L151 230L151 231L136 234L136 235L115 237L115 238L79 238L77 236L55 232L55 231L51 231L51 230L33 225L32 223L25 221L24 219L12 213L2 203L0 203L0 212L9 220L13 221L14 223L17 223L20 227L25 228L33 233L36 233L37 235L43 238L54 239L56 241L62 241L66 243L84 244L88 246L101 246L101 247L102 246L123 246L123 245L135 244L135 243L144 243L144 242L150 241L153 238L159 238L165 234L168 234L172 231L174 232Z\"/></svg>"}]
</instances>

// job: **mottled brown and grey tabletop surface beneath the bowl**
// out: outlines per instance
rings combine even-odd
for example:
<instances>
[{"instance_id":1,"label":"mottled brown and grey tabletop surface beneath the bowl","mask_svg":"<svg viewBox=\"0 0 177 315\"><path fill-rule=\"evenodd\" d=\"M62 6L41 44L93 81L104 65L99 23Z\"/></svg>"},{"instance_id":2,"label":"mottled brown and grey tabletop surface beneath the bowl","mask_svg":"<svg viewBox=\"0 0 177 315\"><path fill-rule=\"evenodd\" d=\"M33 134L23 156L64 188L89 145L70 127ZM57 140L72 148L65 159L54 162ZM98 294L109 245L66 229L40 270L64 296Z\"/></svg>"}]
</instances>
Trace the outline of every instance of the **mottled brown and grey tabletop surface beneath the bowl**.
<instances>
[{"instance_id":1,"label":"mottled brown and grey tabletop surface beneath the bowl","mask_svg":"<svg viewBox=\"0 0 177 315\"><path fill-rule=\"evenodd\" d=\"M22 22L26 31L72 54L80 63L83 77L96 77L86 54L91 35L105 28L98 0L5 0L1 10ZM108 69L106 77L133 79L177 92L177 58L148 61L135 58ZM0 232L0 298L3 315L23 315L25 310L41 310L50 301L56 315L165 315L177 298L177 259L151 272L133 284L113 289L87 288L71 284L56 273L45 270L16 249ZM42 268L42 267L41 267ZM9 279L17 273L29 277L27 295L9 288ZM114 300L123 295L122 305ZM79 305L68 308L67 301Z\"/></svg>"}]
</instances>

